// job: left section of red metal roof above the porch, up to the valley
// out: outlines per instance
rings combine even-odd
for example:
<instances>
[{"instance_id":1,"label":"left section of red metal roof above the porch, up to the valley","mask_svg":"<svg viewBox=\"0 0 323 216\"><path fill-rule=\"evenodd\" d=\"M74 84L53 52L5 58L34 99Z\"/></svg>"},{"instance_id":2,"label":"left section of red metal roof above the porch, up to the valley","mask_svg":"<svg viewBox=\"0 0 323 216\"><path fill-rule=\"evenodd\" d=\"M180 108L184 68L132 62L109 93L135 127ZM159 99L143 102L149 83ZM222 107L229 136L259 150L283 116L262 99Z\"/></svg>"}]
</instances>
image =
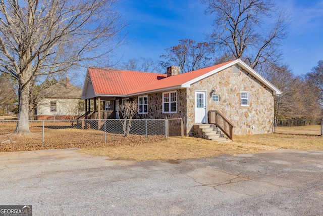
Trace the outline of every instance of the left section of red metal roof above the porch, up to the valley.
<instances>
[{"instance_id":1,"label":"left section of red metal roof above the porch, up to the valley","mask_svg":"<svg viewBox=\"0 0 323 216\"><path fill-rule=\"evenodd\" d=\"M167 77L166 74L104 68L88 68L88 71L96 95L127 95Z\"/></svg>"}]
</instances>

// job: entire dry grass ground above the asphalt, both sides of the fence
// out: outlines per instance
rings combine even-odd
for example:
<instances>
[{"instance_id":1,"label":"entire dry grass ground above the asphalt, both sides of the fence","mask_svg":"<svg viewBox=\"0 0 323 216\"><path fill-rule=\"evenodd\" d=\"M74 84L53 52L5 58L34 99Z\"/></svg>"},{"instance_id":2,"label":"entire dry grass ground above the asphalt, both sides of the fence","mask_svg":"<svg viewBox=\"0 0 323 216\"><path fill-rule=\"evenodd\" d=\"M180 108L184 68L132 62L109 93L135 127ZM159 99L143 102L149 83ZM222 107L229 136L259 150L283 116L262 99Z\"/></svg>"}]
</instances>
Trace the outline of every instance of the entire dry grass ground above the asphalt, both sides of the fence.
<instances>
[{"instance_id":1,"label":"entire dry grass ground above the asphalt, both sides of the fence","mask_svg":"<svg viewBox=\"0 0 323 216\"><path fill-rule=\"evenodd\" d=\"M317 125L288 127L289 134L262 134L234 136L234 142L218 143L190 137L164 137L118 134L106 134L95 129L69 128L71 124L52 122L45 127L44 147L42 141L42 123L30 123L33 133L29 136L12 135L16 123L0 123L0 141L11 140L12 143L0 144L0 151L30 151L38 149L80 148L81 152L92 155L104 155L113 158L134 160L177 160L186 158L212 157L220 154L259 153L277 148L323 151L323 138L310 135L317 131ZM55 126L64 127L57 129ZM319 125L318 125L319 126ZM279 129L284 129L280 127ZM319 131L320 128L318 128ZM307 135L292 134L302 131ZM282 132L282 130L280 130Z\"/></svg>"}]
</instances>

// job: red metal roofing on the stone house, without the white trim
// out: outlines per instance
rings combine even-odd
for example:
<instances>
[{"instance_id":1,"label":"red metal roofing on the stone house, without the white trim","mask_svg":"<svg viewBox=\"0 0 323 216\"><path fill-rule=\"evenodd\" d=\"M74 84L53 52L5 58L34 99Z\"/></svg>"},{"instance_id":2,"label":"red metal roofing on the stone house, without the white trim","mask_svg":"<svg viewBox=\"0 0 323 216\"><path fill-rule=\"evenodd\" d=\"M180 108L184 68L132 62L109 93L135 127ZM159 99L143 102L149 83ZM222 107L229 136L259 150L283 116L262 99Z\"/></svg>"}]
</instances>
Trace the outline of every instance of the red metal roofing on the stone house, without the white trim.
<instances>
[{"instance_id":1,"label":"red metal roofing on the stone house, without the white trim","mask_svg":"<svg viewBox=\"0 0 323 216\"><path fill-rule=\"evenodd\" d=\"M177 87L230 62L169 77L167 77L167 74L104 68L88 68L88 71L95 95L126 96L129 94L140 94L158 89Z\"/></svg>"}]
</instances>

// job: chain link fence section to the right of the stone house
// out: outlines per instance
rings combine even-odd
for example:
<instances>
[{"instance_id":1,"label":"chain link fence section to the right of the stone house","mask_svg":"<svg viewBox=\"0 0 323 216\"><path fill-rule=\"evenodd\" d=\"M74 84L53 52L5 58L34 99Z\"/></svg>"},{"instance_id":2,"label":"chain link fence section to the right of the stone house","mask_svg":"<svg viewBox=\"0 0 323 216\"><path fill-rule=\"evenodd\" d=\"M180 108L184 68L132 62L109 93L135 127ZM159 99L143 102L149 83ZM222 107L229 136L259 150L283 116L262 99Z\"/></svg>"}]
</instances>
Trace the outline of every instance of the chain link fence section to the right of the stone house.
<instances>
[{"instance_id":1,"label":"chain link fence section to the right of the stone house","mask_svg":"<svg viewBox=\"0 0 323 216\"><path fill-rule=\"evenodd\" d=\"M282 134L307 134L323 136L323 118L275 119L274 132Z\"/></svg>"}]
</instances>

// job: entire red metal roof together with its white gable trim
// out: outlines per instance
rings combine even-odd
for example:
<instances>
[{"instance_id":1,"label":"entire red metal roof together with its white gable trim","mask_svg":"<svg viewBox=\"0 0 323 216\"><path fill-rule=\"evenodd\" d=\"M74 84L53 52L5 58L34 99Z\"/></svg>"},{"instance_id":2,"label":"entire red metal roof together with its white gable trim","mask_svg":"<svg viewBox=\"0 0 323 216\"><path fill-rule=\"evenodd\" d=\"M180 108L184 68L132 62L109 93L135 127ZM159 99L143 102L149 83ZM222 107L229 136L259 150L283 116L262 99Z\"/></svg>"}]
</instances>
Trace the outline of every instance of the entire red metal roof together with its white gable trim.
<instances>
[{"instance_id":1,"label":"entire red metal roof together with its white gable trim","mask_svg":"<svg viewBox=\"0 0 323 216\"><path fill-rule=\"evenodd\" d=\"M95 95L134 96L171 89L175 90L177 88L188 88L190 84L233 64L239 64L245 68L268 88L272 89L275 94L281 94L273 84L239 59L170 77L167 77L167 74L104 68L88 68L88 72Z\"/></svg>"}]
</instances>

